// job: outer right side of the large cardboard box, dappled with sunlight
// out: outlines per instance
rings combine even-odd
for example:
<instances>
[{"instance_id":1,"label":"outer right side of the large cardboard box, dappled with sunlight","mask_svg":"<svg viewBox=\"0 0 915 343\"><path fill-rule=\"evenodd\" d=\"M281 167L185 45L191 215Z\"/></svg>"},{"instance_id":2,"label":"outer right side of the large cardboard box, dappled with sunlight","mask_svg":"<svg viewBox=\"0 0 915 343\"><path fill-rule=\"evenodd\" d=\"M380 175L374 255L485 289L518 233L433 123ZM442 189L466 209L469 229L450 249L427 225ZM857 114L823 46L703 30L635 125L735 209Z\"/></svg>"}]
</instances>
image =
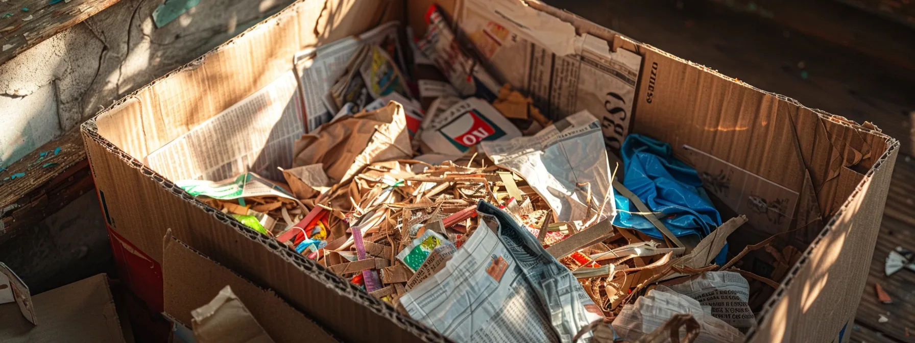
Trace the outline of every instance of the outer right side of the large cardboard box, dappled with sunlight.
<instances>
[{"instance_id":1,"label":"outer right side of the large cardboard box, dappled with sunlight","mask_svg":"<svg viewBox=\"0 0 915 343\"><path fill-rule=\"evenodd\" d=\"M759 327L748 333L748 341L831 341L855 316L898 154L899 141L889 138L887 151L763 306L757 317ZM846 248L848 241L861 249ZM840 313L831 310L841 303L850 305Z\"/></svg>"}]
</instances>

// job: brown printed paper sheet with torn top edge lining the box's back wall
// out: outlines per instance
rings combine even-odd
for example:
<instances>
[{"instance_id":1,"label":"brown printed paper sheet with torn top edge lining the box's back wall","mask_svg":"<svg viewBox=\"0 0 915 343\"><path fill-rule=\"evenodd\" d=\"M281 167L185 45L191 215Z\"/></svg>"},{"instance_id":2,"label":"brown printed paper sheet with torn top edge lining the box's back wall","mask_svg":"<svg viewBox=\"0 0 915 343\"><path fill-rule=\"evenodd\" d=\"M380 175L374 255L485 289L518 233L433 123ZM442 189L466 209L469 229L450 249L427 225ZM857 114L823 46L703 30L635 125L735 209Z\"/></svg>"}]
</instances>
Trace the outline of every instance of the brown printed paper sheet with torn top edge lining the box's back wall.
<instances>
[{"instance_id":1,"label":"brown printed paper sheet with torn top edge lining the box's back wall","mask_svg":"<svg viewBox=\"0 0 915 343\"><path fill-rule=\"evenodd\" d=\"M526 25L529 23L531 25ZM533 26L532 26L533 25ZM550 119L587 110L605 143L619 149L629 134L641 56L518 1L468 0L458 17L483 62L529 94Z\"/></svg>"}]
</instances>

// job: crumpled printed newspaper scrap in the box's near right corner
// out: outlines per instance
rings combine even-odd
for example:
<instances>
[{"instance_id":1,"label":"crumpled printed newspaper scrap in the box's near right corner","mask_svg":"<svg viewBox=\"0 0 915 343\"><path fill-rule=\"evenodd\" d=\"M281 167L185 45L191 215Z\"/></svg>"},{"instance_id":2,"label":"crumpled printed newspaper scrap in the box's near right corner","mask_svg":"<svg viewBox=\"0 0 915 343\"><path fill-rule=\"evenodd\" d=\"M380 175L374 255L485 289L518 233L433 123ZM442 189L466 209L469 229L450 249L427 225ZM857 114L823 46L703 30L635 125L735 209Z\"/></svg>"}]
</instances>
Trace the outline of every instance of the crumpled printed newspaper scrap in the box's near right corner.
<instances>
[{"instance_id":1,"label":"crumpled printed newspaper scrap in the box's near right corner","mask_svg":"<svg viewBox=\"0 0 915 343\"><path fill-rule=\"evenodd\" d=\"M749 308L749 283L734 272L705 272L682 284L668 288L689 296L703 306L711 306L712 316L746 334L756 326L756 316Z\"/></svg>"}]
</instances>

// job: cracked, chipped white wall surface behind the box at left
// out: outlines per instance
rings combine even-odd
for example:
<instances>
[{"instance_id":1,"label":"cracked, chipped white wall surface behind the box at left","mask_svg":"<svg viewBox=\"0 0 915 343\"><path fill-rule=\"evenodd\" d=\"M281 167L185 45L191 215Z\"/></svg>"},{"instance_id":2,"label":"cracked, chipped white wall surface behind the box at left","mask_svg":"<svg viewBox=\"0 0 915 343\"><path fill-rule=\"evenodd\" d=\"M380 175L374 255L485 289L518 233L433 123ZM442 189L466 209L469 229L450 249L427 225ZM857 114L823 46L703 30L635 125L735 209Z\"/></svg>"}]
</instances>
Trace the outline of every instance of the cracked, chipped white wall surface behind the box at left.
<instances>
[{"instance_id":1,"label":"cracked, chipped white wall surface behind the box at left","mask_svg":"<svg viewBox=\"0 0 915 343\"><path fill-rule=\"evenodd\" d=\"M121 0L0 65L0 166L241 33L292 0L208 0L156 28L162 0Z\"/></svg>"}]
</instances>

